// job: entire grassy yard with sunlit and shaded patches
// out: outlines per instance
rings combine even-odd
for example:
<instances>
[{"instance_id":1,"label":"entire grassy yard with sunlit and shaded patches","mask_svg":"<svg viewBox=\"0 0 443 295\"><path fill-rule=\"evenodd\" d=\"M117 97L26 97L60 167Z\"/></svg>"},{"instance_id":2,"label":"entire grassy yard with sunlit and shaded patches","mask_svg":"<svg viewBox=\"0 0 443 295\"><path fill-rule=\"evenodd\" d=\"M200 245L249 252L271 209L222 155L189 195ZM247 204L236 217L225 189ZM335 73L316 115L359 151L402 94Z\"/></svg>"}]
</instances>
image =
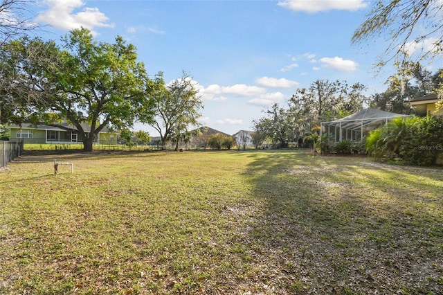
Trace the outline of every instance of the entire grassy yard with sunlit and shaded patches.
<instances>
[{"instance_id":1,"label":"entire grassy yard with sunlit and shaded patches","mask_svg":"<svg viewBox=\"0 0 443 295\"><path fill-rule=\"evenodd\" d=\"M443 294L443 170L300 151L10 163L0 294L105 293Z\"/></svg>"}]
</instances>

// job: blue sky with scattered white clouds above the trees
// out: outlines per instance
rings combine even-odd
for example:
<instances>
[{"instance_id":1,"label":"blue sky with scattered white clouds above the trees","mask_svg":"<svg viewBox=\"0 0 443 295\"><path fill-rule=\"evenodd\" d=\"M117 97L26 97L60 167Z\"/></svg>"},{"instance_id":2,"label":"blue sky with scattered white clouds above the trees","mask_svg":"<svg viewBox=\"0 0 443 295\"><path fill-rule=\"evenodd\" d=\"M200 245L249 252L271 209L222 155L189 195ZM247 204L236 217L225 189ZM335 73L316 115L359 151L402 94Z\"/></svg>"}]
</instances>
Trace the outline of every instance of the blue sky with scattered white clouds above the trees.
<instances>
[{"instance_id":1,"label":"blue sky with scattered white clouds above the trees","mask_svg":"<svg viewBox=\"0 0 443 295\"><path fill-rule=\"evenodd\" d=\"M234 134L252 129L266 106L286 100L315 80L361 82L367 94L385 89L392 74L375 75L383 40L353 46L354 30L373 1L293 0L38 0L40 33L58 40L72 28L96 39L117 35L138 49L138 59L166 82L189 73L204 100L201 124ZM35 11L34 11L35 10ZM154 129L134 125L135 130Z\"/></svg>"}]
</instances>

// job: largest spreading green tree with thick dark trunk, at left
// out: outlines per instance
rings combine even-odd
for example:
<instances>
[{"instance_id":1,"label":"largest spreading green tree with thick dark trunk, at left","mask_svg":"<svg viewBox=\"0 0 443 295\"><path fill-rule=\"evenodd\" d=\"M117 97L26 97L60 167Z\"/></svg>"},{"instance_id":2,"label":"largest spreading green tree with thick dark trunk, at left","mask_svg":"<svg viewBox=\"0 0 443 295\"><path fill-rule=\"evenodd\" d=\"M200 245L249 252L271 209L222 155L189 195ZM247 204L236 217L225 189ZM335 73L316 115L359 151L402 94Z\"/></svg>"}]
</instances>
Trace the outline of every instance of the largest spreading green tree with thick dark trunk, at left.
<instances>
[{"instance_id":1,"label":"largest spreading green tree with thick dark trunk, at left","mask_svg":"<svg viewBox=\"0 0 443 295\"><path fill-rule=\"evenodd\" d=\"M3 122L45 123L75 132L91 151L104 127L121 129L132 126L140 113L152 115L149 98L156 85L137 62L134 45L121 37L114 44L97 42L85 28L61 41L57 46L24 37L1 48ZM63 120L73 128L60 124Z\"/></svg>"}]
</instances>

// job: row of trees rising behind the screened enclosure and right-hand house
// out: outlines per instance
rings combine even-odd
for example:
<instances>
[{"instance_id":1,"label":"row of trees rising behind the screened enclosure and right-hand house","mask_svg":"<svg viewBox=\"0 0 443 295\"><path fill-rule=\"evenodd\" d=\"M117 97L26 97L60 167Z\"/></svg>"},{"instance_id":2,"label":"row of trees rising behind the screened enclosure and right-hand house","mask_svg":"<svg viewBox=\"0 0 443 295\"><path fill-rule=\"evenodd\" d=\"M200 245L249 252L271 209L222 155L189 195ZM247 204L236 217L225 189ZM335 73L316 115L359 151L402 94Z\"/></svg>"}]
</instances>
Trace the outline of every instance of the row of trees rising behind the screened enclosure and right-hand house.
<instances>
[{"instance_id":1,"label":"row of trees rising behind the screened enclosure and right-hand house","mask_svg":"<svg viewBox=\"0 0 443 295\"><path fill-rule=\"evenodd\" d=\"M305 143L305 137L320 134L320 123L338 120L363 107L397 114L413 114L409 101L439 91L443 69L431 73L418 62L397 63L397 73L386 81L387 89L365 96L366 87L346 81L316 80L309 88L297 89L287 105L275 103L264 109L262 118L253 120L254 141L264 141L275 147L289 143ZM312 139L310 139L312 141Z\"/></svg>"}]
</instances>

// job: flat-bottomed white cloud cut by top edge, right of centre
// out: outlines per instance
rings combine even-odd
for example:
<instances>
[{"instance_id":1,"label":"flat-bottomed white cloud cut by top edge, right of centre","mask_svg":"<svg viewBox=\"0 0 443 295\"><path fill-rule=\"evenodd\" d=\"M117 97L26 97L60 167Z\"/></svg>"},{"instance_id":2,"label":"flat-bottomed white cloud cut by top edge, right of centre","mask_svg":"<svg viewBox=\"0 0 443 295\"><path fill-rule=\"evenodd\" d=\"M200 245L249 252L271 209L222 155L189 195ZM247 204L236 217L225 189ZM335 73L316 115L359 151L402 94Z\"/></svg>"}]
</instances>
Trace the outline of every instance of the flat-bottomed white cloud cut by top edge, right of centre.
<instances>
[{"instance_id":1,"label":"flat-bottomed white cloud cut by top edge, right of centre","mask_svg":"<svg viewBox=\"0 0 443 295\"><path fill-rule=\"evenodd\" d=\"M364 0L282 0L278 6L294 11L315 13L325 10L359 10L368 6Z\"/></svg>"}]
</instances>

